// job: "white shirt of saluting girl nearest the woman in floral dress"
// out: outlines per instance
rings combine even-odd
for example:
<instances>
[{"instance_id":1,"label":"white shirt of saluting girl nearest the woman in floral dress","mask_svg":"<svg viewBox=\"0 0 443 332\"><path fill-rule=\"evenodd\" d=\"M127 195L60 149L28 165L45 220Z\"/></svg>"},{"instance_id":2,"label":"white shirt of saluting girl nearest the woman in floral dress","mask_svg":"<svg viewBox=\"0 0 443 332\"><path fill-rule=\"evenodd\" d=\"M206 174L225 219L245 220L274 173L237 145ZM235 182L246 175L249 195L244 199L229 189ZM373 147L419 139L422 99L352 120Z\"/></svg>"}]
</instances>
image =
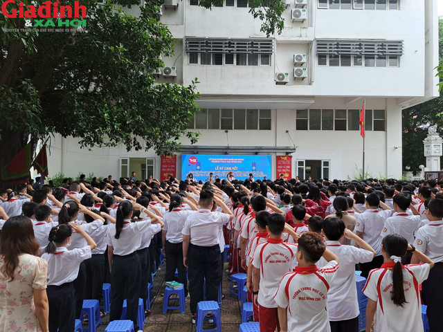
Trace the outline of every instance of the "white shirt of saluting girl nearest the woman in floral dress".
<instances>
[{"instance_id":1,"label":"white shirt of saluting girl nearest the woman in floral dress","mask_svg":"<svg viewBox=\"0 0 443 332\"><path fill-rule=\"evenodd\" d=\"M42 259L48 262L48 286L60 286L73 282L78 277L80 264L91 258L91 247L68 250L58 247L53 254L44 253Z\"/></svg>"}]
</instances>

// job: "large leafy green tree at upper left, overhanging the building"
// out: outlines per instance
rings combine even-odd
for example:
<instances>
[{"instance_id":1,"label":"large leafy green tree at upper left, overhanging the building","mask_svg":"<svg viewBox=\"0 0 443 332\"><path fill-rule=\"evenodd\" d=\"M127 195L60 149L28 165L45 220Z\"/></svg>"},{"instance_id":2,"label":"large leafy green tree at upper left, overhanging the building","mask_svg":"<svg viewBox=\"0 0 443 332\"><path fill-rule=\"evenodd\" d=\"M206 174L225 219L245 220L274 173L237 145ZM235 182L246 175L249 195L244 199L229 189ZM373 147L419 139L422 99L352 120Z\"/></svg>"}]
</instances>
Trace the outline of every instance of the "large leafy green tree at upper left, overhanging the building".
<instances>
[{"instance_id":1,"label":"large leafy green tree at upper left, overhanging the building","mask_svg":"<svg viewBox=\"0 0 443 332\"><path fill-rule=\"evenodd\" d=\"M25 7L30 0L22 0ZM33 3L41 5L43 0ZM112 2L112 3L111 3ZM201 0L210 8L221 0ZM280 1L248 0L250 12L264 21L266 35L281 33ZM164 0L145 0L139 17L123 12L139 0L112 0L87 8L86 30L23 32L25 19L0 15L0 167L31 137L51 134L80 138L80 147L176 151L198 111L197 79L190 86L154 84L152 70L161 55L174 52L174 39L160 23ZM63 6L74 6L65 0ZM265 6L265 7L262 7ZM19 10L18 1L8 9ZM57 22L57 20L55 20ZM50 27L51 28L51 27Z\"/></svg>"}]
</instances>

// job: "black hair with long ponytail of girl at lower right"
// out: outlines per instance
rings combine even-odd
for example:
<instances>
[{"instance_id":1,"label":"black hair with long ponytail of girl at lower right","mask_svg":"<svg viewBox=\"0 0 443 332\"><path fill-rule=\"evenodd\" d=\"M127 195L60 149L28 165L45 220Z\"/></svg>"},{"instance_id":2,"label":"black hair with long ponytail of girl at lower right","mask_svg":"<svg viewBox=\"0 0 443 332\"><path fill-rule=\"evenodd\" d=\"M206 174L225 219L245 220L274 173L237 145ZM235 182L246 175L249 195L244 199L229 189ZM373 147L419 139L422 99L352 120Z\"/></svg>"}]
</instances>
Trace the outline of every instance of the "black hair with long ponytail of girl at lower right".
<instances>
[{"instance_id":1,"label":"black hair with long ponytail of girl at lower right","mask_svg":"<svg viewBox=\"0 0 443 332\"><path fill-rule=\"evenodd\" d=\"M408 241L399 234L389 234L381 242L383 251L387 252L390 259L395 261L392 270L392 302L397 306L403 307L406 302L403 288L403 270L401 266L401 257L406 255L408 250Z\"/></svg>"}]
</instances>

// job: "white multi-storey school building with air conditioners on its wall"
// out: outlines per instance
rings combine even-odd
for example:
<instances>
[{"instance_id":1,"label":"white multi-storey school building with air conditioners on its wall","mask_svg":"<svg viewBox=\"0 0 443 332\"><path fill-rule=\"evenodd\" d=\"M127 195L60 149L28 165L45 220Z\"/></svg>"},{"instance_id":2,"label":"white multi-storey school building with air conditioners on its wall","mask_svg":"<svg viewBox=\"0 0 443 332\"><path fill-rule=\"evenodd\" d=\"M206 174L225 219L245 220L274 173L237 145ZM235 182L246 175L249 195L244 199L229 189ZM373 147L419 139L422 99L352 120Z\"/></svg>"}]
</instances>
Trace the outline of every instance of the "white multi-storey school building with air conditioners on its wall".
<instances>
[{"instance_id":1,"label":"white multi-storey school building with air conditioners on its wall","mask_svg":"<svg viewBox=\"0 0 443 332\"><path fill-rule=\"evenodd\" d=\"M277 0L276 0L277 1ZM174 38L158 82L198 78L201 113L177 153L291 156L292 177L353 178L362 167L359 117L365 100L365 170L401 177L401 110L438 96L437 0L283 0L284 30L266 37L246 0L206 10L165 0ZM135 13L137 9L127 10ZM417 151L421 154L422 151ZM51 174L161 177L154 151L80 149L56 136ZM418 171L418 169L417 169Z\"/></svg>"}]
</instances>

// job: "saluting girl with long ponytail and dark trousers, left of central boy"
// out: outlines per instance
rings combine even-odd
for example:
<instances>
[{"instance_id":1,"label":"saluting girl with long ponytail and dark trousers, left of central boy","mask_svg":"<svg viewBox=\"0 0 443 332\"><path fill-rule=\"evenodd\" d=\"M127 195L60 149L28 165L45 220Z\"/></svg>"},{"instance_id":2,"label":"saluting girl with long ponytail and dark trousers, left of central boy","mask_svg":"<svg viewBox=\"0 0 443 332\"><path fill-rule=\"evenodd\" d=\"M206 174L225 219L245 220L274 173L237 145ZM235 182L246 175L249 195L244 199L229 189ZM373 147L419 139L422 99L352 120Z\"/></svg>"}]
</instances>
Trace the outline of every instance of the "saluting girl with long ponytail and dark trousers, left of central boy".
<instances>
[{"instance_id":1,"label":"saluting girl with long ponytail and dark trousers, left of central boy","mask_svg":"<svg viewBox=\"0 0 443 332\"><path fill-rule=\"evenodd\" d=\"M131 222L132 204L123 201L118 205L116 224L109 225L106 232L109 270L111 271L111 313L109 321L120 320L123 301L127 299L127 319L134 322L134 331L143 329L137 325L138 296L141 285L141 264L136 250L141 246L144 232L159 218L141 205L134 205L151 218L151 221Z\"/></svg>"}]
</instances>

